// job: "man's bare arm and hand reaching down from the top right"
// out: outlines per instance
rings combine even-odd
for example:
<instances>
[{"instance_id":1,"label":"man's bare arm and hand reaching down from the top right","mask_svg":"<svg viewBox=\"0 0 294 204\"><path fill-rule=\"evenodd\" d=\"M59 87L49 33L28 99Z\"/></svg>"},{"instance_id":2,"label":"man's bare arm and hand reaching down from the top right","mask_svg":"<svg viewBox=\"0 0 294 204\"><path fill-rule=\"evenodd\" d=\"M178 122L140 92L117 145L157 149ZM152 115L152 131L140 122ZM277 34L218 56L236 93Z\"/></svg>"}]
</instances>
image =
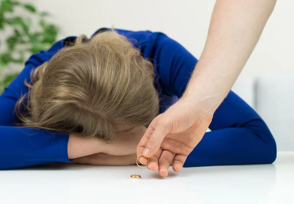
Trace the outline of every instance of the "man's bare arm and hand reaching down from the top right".
<instances>
[{"instance_id":1,"label":"man's bare arm and hand reaching down from the top right","mask_svg":"<svg viewBox=\"0 0 294 204\"><path fill-rule=\"evenodd\" d=\"M182 169L257 44L275 2L217 0L206 45L186 91L165 113L154 118L138 144L137 156L154 161L154 168L150 170L159 169L162 176L167 176L168 165L161 161L169 160L173 155L173 169ZM185 137L178 137L177 141L166 139L166 144L174 148L162 148L165 154L154 158L165 137L171 133ZM147 163L146 158L139 160Z\"/></svg>"}]
</instances>

